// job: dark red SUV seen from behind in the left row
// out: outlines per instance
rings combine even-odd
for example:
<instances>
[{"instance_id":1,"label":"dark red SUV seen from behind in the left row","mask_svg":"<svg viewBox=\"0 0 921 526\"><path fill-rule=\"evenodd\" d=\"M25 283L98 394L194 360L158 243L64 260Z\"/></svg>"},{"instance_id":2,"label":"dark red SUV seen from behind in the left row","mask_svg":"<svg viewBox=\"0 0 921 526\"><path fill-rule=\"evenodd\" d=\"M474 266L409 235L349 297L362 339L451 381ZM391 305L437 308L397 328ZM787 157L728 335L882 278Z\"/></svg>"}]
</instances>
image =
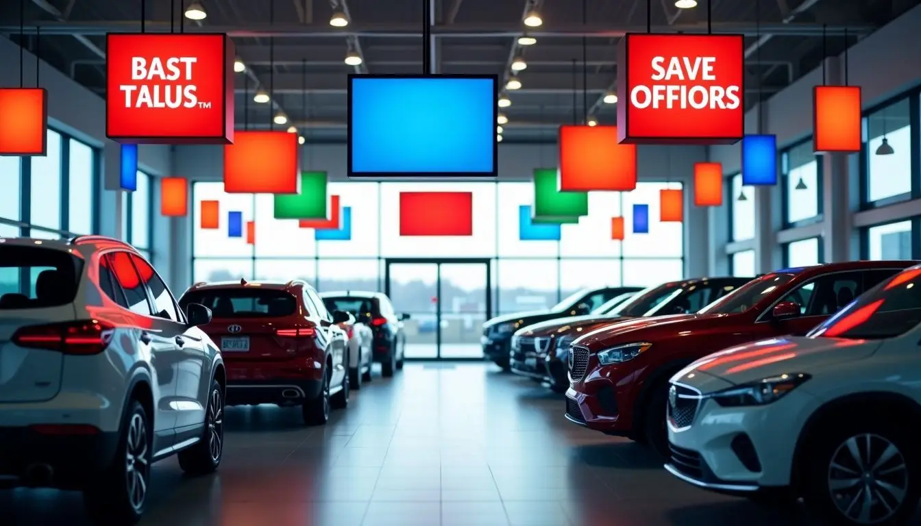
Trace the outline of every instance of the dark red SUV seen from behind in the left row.
<instances>
[{"instance_id":1,"label":"dark red SUV seen from behind in the left row","mask_svg":"<svg viewBox=\"0 0 921 526\"><path fill-rule=\"evenodd\" d=\"M299 405L308 425L348 405L348 336L317 291L288 283L196 283L180 305L201 303L213 318L202 328L227 363L227 405Z\"/></svg>"}]
</instances>

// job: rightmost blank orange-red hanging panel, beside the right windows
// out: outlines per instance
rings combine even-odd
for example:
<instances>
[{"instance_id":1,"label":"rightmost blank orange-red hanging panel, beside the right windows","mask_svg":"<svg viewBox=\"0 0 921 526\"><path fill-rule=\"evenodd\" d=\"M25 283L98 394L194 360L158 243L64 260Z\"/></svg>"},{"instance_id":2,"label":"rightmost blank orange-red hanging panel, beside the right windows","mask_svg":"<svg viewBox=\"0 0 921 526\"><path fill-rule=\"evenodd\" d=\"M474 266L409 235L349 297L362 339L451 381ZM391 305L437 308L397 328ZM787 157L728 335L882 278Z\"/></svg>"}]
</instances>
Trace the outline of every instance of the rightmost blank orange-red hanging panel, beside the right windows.
<instances>
[{"instance_id":1,"label":"rightmost blank orange-red hanging panel, beside the right windows","mask_svg":"<svg viewBox=\"0 0 921 526\"><path fill-rule=\"evenodd\" d=\"M860 88L816 86L812 91L813 147L817 152L860 151Z\"/></svg>"}]
</instances>

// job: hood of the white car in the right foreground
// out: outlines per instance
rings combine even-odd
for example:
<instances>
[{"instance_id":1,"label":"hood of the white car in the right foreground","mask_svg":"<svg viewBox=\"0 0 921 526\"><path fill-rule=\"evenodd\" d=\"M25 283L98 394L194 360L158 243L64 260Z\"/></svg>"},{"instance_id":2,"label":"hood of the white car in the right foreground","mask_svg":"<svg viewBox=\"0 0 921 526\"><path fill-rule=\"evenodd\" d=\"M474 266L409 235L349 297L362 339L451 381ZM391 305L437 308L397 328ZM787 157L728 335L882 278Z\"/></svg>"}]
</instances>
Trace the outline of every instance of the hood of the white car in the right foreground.
<instances>
[{"instance_id":1,"label":"hood of the white car in the right foreground","mask_svg":"<svg viewBox=\"0 0 921 526\"><path fill-rule=\"evenodd\" d=\"M739 385L783 374L813 374L823 367L862 359L879 347L878 340L783 336L729 347L703 357L673 377L687 382L700 373Z\"/></svg>"}]
</instances>

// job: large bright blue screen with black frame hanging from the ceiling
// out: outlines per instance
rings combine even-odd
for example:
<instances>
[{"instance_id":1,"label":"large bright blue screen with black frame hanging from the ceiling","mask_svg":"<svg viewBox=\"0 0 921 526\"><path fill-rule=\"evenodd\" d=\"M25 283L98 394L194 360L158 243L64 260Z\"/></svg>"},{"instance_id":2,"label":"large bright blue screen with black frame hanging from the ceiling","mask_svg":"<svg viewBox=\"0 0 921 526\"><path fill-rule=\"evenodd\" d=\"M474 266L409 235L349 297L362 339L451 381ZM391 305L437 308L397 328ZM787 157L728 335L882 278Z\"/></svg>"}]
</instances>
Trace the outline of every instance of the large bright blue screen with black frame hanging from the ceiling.
<instances>
[{"instance_id":1,"label":"large bright blue screen with black frame hanging from the ceiling","mask_svg":"<svg viewBox=\"0 0 921 526\"><path fill-rule=\"evenodd\" d=\"M495 177L495 76L349 76L349 177Z\"/></svg>"}]
</instances>

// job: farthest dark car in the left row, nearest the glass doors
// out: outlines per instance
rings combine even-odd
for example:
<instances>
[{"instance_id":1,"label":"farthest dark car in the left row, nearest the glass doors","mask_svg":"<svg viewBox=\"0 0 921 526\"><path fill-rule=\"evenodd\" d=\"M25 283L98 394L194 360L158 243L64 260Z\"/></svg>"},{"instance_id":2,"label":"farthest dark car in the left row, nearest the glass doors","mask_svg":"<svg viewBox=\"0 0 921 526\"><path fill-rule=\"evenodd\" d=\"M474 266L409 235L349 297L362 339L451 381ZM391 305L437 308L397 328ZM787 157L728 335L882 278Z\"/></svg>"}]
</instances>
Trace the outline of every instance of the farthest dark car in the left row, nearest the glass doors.
<instances>
[{"instance_id":1,"label":"farthest dark car in the left row, nearest the glass doors","mask_svg":"<svg viewBox=\"0 0 921 526\"><path fill-rule=\"evenodd\" d=\"M371 329L371 348L374 361L380 363L381 375L391 377L394 370L402 369L406 353L406 333L402 330L402 322L409 320L409 314L397 314L391 298L382 292L347 290L325 292L323 297L327 302L361 301L360 308L353 314L356 320L366 323Z\"/></svg>"}]
</instances>

